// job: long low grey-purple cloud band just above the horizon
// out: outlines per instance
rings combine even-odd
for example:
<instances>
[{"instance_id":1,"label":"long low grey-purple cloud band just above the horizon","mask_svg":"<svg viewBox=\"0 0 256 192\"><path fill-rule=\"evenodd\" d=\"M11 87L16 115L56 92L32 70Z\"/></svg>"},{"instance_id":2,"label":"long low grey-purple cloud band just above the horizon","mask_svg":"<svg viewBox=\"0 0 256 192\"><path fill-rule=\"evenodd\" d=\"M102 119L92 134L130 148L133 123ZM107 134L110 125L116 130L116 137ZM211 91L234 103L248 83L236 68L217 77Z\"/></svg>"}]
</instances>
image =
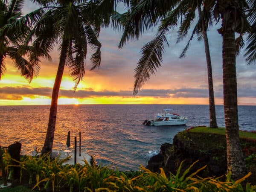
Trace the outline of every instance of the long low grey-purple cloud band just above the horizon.
<instances>
[{"instance_id":1,"label":"long low grey-purple cloud band just above the horizon","mask_svg":"<svg viewBox=\"0 0 256 192\"><path fill-rule=\"evenodd\" d=\"M21 96L34 97L35 95L50 97L52 94L52 88L50 87L39 87L39 88L28 88L28 87L2 87L0 88L1 99L12 99L20 100ZM87 90L78 90L75 93L73 90L60 90L59 96L68 98L90 98L90 97L111 97L111 96L122 96L131 97L133 94L132 90L120 90L120 91L94 91L92 88ZM207 88L180 88L180 89L144 89L141 90L137 96L140 97L159 97L159 98L207 98ZM239 97L256 97L256 87L245 86L241 87L238 91ZM215 98L222 98L222 87L221 85L215 87Z\"/></svg>"}]
</instances>

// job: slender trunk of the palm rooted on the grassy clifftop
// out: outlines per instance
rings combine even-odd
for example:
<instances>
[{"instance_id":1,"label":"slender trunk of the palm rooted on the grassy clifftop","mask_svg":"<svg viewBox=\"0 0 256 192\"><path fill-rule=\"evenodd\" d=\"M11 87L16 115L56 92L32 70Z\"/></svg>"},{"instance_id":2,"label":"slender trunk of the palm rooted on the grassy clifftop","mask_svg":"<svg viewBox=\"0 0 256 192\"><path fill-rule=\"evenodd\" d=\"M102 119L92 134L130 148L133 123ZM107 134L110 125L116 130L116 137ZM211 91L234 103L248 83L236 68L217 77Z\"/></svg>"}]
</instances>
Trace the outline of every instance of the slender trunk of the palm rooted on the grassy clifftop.
<instances>
[{"instance_id":1,"label":"slender trunk of the palm rooted on the grassy clifftop","mask_svg":"<svg viewBox=\"0 0 256 192\"><path fill-rule=\"evenodd\" d=\"M198 6L199 17L201 17L201 12L202 12L201 7ZM212 82L212 62L211 62L208 37L207 37L207 32L205 29L204 22L202 22L201 28L202 28L203 38L204 38L204 50L205 50L206 64L207 64L210 128L218 128L217 121L216 121L214 91L213 91L213 82Z\"/></svg>"}]
</instances>

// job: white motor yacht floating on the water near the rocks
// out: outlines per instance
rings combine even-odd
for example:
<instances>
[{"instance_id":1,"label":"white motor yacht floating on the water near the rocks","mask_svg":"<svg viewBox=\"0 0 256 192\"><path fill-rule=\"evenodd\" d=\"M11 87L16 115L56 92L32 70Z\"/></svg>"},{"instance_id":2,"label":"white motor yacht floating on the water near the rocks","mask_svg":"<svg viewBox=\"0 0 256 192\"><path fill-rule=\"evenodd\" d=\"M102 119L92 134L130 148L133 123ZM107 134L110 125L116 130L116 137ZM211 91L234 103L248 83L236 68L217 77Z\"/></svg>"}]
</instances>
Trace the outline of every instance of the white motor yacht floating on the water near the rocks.
<instances>
[{"instance_id":1,"label":"white motor yacht floating on the water near the rocks","mask_svg":"<svg viewBox=\"0 0 256 192\"><path fill-rule=\"evenodd\" d=\"M186 125L187 117L180 116L177 113L170 113L172 109L164 109L162 113L157 113L154 119L146 119L143 125L147 126L170 126L170 125Z\"/></svg>"}]
</instances>

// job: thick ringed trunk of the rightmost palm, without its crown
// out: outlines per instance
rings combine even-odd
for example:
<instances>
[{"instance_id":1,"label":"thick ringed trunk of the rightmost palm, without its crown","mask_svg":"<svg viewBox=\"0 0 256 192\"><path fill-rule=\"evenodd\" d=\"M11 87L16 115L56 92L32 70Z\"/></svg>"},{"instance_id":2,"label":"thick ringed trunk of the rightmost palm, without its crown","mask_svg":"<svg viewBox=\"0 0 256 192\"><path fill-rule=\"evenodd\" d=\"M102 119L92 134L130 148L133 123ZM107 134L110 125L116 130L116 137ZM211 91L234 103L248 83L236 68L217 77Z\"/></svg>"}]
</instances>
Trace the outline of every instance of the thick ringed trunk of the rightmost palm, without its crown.
<instances>
[{"instance_id":1,"label":"thick ringed trunk of the rightmost palm, without its crown","mask_svg":"<svg viewBox=\"0 0 256 192\"><path fill-rule=\"evenodd\" d=\"M224 113L227 140L227 168L237 179L245 175L244 157L239 142L236 82L236 41L232 29L233 19L224 23L222 17L222 68Z\"/></svg>"}]
</instances>

